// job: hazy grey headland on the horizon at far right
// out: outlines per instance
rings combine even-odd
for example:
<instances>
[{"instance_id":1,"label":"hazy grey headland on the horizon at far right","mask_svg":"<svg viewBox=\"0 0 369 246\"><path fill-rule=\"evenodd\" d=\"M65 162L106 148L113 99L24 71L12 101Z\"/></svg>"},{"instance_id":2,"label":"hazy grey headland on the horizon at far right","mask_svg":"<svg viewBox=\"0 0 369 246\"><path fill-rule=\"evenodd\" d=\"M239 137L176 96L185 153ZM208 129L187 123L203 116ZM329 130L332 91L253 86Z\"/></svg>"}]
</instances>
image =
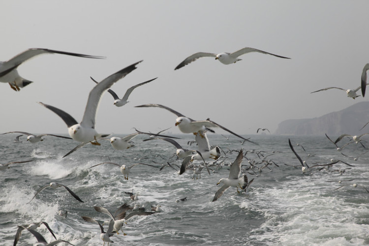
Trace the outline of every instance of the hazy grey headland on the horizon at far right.
<instances>
[{"instance_id":1,"label":"hazy grey headland on the horizon at far right","mask_svg":"<svg viewBox=\"0 0 369 246\"><path fill-rule=\"evenodd\" d=\"M277 135L360 135L369 132L369 102L360 102L337 112L312 119L290 119L279 123Z\"/></svg>"}]
</instances>

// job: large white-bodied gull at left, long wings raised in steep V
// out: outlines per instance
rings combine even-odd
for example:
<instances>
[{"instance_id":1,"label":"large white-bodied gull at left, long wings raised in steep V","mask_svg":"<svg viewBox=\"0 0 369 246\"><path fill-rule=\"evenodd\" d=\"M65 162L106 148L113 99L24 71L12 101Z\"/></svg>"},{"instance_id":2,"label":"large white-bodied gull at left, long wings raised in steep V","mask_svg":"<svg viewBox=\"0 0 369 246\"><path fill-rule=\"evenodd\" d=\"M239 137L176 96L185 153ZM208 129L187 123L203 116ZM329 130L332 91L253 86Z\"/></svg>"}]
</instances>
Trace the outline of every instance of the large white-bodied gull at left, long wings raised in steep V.
<instances>
[{"instance_id":1,"label":"large white-bodied gull at left, long wings raised in steep V","mask_svg":"<svg viewBox=\"0 0 369 246\"><path fill-rule=\"evenodd\" d=\"M139 64L140 62L134 63L122 70L119 70L116 73L113 73L112 75L103 79L101 82L99 82L97 85L93 87L93 89L91 90L89 94L89 99L87 100L85 113L83 115L81 123L78 123L70 114L64 112L63 110L59 108L46 105L40 102L39 104L49 108L50 110L52 110L54 113L58 114L62 118L62 120L65 122L65 124L68 127L69 136L73 140L79 141L82 143L91 142L94 145L100 145L100 143L98 143L96 139L101 138L101 137L106 137L106 136L102 136L101 134L98 134L95 130L95 116L96 116L98 104L100 102L100 98L105 90L110 88L119 79L123 78L125 75L135 70L136 65Z\"/></svg>"}]
</instances>

